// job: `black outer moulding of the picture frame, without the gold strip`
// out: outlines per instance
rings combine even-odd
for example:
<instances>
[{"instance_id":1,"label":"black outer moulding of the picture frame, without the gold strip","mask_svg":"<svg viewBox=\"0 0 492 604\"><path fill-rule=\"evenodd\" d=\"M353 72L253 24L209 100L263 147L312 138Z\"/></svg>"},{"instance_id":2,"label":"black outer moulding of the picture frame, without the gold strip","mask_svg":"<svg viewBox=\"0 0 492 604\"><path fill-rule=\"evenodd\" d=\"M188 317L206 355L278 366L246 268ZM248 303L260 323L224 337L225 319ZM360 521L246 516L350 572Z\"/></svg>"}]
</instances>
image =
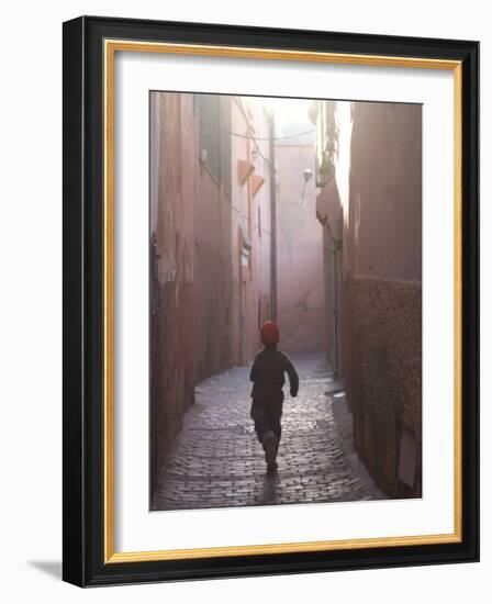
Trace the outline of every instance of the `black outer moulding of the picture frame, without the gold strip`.
<instances>
[{"instance_id":1,"label":"black outer moulding of the picture frame, without the gold strip","mask_svg":"<svg viewBox=\"0 0 492 604\"><path fill-rule=\"evenodd\" d=\"M104 61L108 38L407 57L461 66L459 543L113 561L104 555ZM479 43L81 16L64 23L63 578L80 586L479 560Z\"/></svg>"}]
</instances>

